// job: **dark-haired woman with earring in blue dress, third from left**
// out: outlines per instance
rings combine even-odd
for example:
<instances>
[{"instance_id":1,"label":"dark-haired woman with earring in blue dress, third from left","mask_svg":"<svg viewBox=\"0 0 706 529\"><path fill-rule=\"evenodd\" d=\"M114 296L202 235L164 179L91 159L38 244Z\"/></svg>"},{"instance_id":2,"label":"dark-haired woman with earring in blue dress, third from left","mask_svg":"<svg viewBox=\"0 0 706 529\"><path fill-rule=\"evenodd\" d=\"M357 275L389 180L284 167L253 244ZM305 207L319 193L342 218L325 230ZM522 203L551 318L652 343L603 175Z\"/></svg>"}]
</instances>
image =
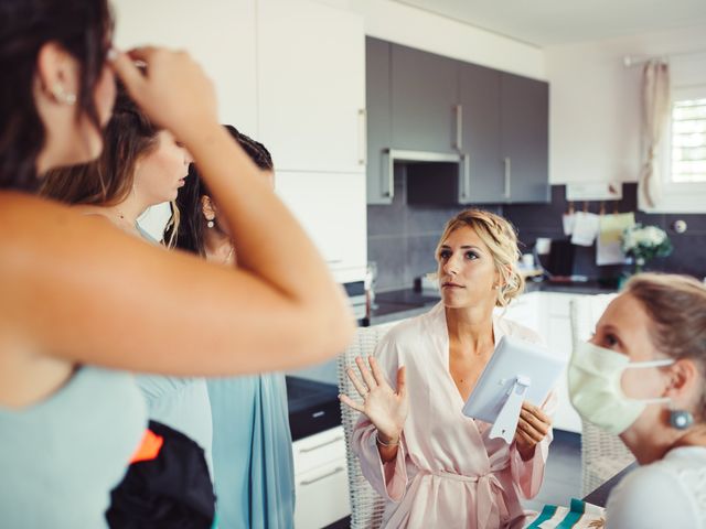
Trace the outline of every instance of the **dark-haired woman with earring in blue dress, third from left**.
<instances>
[{"instance_id":1,"label":"dark-haired woman with earring in blue dress, third from left","mask_svg":"<svg viewBox=\"0 0 706 529\"><path fill-rule=\"evenodd\" d=\"M226 126L234 140L274 186L274 165L261 143ZM235 264L233 236L218 205L191 165L179 191L181 212L176 247L220 264ZM293 523L295 472L282 374L271 373L207 381L213 415L213 469L216 511L223 529L286 529Z\"/></svg>"}]
</instances>

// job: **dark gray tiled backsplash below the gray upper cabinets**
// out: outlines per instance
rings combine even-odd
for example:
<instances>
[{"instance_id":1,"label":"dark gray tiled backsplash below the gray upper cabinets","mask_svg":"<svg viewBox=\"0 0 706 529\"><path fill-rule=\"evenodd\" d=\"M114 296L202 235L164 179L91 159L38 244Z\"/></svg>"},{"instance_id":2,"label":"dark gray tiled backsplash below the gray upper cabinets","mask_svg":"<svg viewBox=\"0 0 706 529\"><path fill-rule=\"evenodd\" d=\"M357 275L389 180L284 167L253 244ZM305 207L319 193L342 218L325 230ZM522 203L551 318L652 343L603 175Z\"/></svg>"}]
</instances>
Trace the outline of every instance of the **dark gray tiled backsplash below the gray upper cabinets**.
<instances>
[{"instance_id":1,"label":"dark gray tiled backsplash below the gray upper cabinets","mask_svg":"<svg viewBox=\"0 0 706 529\"><path fill-rule=\"evenodd\" d=\"M436 269L434 250L445 223L460 206L420 207L406 201L406 175L404 169L395 170L395 198L389 206L367 206L367 255L377 264L378 292L410 288L414 279ZM549 204L483 205L485 209L505 215L516 227L522 241L522 251L531 251L537 237L566 240L561 227L561 215L568 209L564 185L552 186ZM584 204L575 204L582 209ZM598 202L588 203L588 210L598 213ZM618 203L606 202L607 213L637 210L637 184L623 184L623 198ZM672 229L674 220L686 220L684 234ZM706 215L651 215L635 212L635 220L644 225L656 225L667 231L674 245L672 256L656 258L649 263L651 270L689 273L698 278L706 276ZM598 267L596 246L576 246L574 255L575 274L589 278L618 278L623 267Z\"/></svg>"}]
</instances>

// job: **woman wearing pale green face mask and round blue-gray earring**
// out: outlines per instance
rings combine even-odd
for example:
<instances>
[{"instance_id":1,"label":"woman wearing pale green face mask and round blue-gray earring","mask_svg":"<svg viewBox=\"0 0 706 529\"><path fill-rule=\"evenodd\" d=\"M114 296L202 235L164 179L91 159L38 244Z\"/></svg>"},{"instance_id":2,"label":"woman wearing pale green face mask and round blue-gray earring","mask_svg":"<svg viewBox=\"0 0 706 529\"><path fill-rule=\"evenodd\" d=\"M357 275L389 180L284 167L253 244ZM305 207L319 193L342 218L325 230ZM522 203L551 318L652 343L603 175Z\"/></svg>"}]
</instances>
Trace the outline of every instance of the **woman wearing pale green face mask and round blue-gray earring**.
<instances>
[{"instance_id":1,"label":"woman wearing pale green face mask and round blue-gray earring","mask_svg":"<svg viewBox=\"0 0 706 529\"><path fill-rule=\"evenodd\" d=\"M571 402L619 434L639 468L612 490L609 529L706 527L706 288L643 273L569 364Z\"/></svg>"}]
</instances>

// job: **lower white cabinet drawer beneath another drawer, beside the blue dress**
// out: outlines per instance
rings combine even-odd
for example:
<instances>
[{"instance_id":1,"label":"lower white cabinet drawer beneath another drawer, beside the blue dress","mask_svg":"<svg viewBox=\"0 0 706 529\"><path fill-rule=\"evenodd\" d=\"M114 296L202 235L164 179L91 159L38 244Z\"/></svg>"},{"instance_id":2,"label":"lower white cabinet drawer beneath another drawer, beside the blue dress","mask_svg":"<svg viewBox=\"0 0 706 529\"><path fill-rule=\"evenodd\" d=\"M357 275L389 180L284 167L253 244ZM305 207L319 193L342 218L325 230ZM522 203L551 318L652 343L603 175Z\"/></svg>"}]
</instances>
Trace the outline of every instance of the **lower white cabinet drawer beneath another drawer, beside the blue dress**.
<instances>
[{"instance_id":1,"label":"lower white cabinet drawer beneath another drawer, beside the blue dress","mask_svg":"<svg viewBox=\"0 0 706 529\"><path fill-rule=\"evenodd\" d=\"M345 457L296 475L297 529L320 529L351 514Z\"/></svg>"}]
</instances>

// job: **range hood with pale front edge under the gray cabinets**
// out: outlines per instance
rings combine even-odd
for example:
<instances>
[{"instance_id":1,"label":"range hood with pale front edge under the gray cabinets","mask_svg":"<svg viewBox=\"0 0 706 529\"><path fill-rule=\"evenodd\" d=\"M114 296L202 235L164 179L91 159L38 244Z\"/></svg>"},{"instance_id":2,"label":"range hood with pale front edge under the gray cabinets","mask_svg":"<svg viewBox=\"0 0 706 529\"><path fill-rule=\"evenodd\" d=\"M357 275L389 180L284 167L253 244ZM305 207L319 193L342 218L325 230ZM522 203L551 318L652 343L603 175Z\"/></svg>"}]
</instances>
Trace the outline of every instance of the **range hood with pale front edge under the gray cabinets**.
<instances>
[{"instance_id":1,"label":"range hood with pale front edge under the gray cabinets","mask_svg":"<svg viewBox=\"0 0 706 529\"><path fill-rule=\"evenodd\" d=\"M395 193L395 166L403 165L407 173L408 204L466 204L470 202L470 159L463 153L383 151L383 193L391 198Z\"/></svg>"}]
</instances>

